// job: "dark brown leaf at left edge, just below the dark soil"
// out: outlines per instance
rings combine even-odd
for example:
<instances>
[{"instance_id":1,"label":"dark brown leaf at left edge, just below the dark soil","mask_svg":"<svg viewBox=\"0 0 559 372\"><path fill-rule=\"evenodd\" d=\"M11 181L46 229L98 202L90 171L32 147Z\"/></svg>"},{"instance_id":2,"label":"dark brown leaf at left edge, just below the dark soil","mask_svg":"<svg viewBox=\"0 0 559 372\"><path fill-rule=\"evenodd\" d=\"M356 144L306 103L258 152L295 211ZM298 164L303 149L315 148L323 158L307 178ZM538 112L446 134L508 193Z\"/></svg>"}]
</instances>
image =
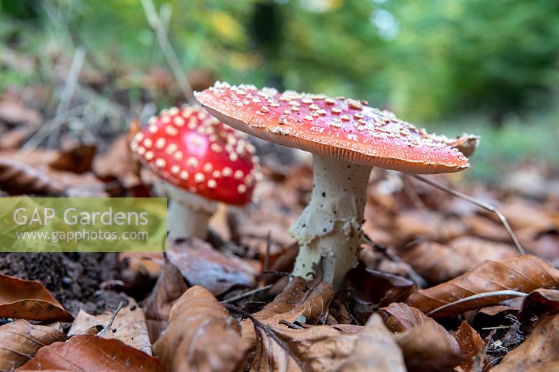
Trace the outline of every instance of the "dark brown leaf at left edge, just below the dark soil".
<instances>
[{"instance_id":1,"label":"dark brown leaf at left edge, just below the dark soil","mask_svg":"<svg viewBox=\"0 0 559 372\"><path fill-rule=\"evenodd\" d=\"M71 322L73 317L38 281L24 281L0 274L0 318L59 320Z\"/></svg>"}]
</instances>

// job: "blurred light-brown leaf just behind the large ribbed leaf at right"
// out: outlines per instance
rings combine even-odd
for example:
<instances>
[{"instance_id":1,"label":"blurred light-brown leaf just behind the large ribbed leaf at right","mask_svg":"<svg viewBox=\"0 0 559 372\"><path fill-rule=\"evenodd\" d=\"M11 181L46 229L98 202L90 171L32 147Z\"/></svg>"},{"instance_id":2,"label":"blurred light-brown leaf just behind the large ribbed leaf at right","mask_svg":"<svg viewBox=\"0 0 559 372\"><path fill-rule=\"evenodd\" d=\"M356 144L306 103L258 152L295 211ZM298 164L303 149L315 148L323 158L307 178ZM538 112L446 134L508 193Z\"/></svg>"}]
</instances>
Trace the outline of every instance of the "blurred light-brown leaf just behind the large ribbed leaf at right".
<instances>
[{"instance_id":1,"label":"blurred light-brown leaf just behind the large ribbed leaf at right","mask_svg":"<svg viewBox=\"0 0 559 372\"><path fill-rule=\"evenodd\" d=\"M421 241L400 251L400 257L431 283L449 281L486 260L518 255L513 246L477 237L458 237L447 244Z\"/></svg>"}]
</instances>

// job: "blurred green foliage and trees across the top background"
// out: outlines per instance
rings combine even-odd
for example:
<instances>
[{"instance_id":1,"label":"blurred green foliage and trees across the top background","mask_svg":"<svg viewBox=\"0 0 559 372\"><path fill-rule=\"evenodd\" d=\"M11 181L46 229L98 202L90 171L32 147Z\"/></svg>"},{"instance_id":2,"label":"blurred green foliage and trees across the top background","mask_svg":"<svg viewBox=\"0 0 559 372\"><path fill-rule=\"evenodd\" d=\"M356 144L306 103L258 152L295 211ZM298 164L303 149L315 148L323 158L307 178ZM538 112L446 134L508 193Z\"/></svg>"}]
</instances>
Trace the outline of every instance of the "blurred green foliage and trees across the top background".
<instances>
[{"instance_id":1,"label":"blurred green foliage and trees across the top background","mask_svg":"<svg viewBox=\"0 0 559 372\"><path fill-rule=\"evenodd\" d=\"M449 134L493 136L484 146L500 142L488 126L516 133L529 125L544 142L559 135L556 0L154 3L185 71L364 98L431 128L459 123ZM86 45L107 70L126 66L129 87L166 66L140 0L0 0L0 38L38 56L52 45L70 56L71 45ZM0 87L26 79L6 69L0 78ZM542 147L523 145L504 146L503 158Z\"/></svg>"}]
</instances>

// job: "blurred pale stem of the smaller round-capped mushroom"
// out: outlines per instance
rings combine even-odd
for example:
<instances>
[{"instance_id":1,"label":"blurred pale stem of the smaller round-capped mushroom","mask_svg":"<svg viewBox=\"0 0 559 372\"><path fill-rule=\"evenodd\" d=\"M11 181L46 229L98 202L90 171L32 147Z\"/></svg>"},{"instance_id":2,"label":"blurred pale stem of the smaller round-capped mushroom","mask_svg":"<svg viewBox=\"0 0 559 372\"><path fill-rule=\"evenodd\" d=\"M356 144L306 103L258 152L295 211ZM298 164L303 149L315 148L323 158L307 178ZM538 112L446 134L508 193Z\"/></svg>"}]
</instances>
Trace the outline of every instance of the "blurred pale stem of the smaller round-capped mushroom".
<instances>
[{"instance_id":1,"label":"blurred pale stem of the smaller round-capped mushroom","mask_svg":"<svg viewBox=\"0 0 559 372\"><path fill-rule=\"evenodd\" d=\"M203 198L181 188L165 184L169 202L168 230L170 239L208 237L208 221L217 211L217 202Z\"/></svg>"}]
</instances>

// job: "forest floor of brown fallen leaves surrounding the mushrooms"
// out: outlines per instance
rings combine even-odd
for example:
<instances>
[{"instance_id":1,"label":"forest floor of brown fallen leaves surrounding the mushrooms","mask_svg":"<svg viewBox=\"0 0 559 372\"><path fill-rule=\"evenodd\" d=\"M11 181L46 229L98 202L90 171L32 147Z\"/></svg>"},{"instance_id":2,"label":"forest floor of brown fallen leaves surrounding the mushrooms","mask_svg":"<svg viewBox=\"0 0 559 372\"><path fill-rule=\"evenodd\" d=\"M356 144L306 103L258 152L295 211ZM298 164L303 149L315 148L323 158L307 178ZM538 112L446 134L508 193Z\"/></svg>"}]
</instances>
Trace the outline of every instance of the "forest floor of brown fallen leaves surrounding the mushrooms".
<instances>
[{"instance_id":1,"label":"forest floor of brown fallen leaves surrounding the mushrooms","mask_svg":"<svg viewBox=\"0 0 559 372\"><path fill-rule=\"evenodd\" d=\"M2 196L154 195L122 133L154 110L122 91L103 98L105 84L82 71L68 101L3 92ZM208 241L170 241L165 254L0 253L0 371L559 369L557 169L520 163L491 184L429 177L498 208L524 254L490 211L373 170L367 243L335 291L288 280L298 247L287 228L309 201L310 165L255 145L254 202L220 207Z\"/></svg>"}]
</instances>

